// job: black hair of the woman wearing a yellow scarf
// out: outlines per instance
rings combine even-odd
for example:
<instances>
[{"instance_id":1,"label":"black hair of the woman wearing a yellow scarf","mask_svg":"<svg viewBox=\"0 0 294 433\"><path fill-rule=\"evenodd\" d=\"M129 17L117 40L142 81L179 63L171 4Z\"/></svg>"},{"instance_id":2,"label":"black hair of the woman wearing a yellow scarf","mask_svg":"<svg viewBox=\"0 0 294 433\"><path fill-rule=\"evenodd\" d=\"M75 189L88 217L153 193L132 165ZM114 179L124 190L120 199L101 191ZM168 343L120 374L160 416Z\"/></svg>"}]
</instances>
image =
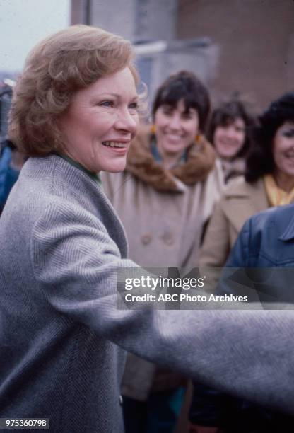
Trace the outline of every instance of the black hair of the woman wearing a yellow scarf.
<instances>
[{"instance_id":1,"label":"black hair of the woman wearing a yellow scarf","mask_svg":"<svg viewBox=\"0 0 294 433\"><path fill-rule=\"evenodd\" d=\"M254 146L246 162L247 182L254 182L274 171L273 139L277 129L287 121L294 122L294 91L275 100L259 117L259 125L254 132Z\"/></svg>"}]
</instances>

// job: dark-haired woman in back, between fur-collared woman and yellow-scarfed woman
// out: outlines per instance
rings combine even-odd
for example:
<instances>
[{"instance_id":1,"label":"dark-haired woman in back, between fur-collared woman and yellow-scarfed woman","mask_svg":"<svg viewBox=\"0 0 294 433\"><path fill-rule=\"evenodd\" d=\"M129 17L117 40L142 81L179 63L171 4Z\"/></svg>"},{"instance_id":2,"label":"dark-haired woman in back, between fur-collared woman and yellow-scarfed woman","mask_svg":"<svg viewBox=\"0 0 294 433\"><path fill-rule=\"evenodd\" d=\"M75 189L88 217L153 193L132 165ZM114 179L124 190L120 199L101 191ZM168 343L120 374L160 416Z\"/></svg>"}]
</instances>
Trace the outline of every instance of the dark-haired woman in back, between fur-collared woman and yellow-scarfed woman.
<instances>
[{"instance_id":1,"label":"dark-haired woman in back, between fur-collared woman and yellow-scarfed woman","mask_svg":"<svg viewBox=\"0 0 294 433\"><path fill-rule=\"evenodd\" d=\"M254 117L238 99L221 104L211 115L207 137L220 159L225 183L245 173L253 126Z\"/></svg>"}]
</instances>

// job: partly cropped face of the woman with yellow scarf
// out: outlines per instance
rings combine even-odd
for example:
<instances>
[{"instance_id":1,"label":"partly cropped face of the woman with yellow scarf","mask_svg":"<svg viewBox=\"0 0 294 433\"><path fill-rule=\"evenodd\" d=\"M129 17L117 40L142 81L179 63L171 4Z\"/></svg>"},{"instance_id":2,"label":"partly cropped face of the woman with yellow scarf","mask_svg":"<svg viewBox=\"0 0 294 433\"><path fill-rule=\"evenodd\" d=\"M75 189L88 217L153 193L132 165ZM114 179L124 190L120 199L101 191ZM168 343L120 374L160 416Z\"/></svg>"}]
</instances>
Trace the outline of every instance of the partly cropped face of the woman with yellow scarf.
<instances>
[{"instance_id":1,"label":"partly cropped face of the woman with yellow scarf","mask_svg":"<svg viewBox=\"0 0 294 433\"><path fill-rule=\"evenodd\" d=\"M273 157L278 173L294 177L294 122L284 122L276 130Z\"/></svg>"}]
</instances>

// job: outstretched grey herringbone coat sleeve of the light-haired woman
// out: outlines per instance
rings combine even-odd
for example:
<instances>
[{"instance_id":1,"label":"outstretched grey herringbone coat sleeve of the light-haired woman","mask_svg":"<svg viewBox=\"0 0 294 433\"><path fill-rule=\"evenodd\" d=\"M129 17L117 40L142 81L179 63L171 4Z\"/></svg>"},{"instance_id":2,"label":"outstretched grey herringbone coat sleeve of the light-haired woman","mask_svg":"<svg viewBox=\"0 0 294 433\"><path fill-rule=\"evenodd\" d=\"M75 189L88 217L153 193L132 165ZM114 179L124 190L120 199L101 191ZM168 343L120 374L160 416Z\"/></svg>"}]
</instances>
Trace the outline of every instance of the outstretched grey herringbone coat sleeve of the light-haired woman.
<instances>
[{"instance_id":1,"label":"outstretched grey herringbone coat sleeve of the light-haired woman","mask_svg":"<svg viewBox=\"0 0 294 433\"><path fill-rule=\"evenodd\" d=\"M196 381L294 412L292 311L118 309L117 269L136 265L100 220L63 202L37 219L30 250L39 293L59 313Z\"/></svg>"}]
</instances>

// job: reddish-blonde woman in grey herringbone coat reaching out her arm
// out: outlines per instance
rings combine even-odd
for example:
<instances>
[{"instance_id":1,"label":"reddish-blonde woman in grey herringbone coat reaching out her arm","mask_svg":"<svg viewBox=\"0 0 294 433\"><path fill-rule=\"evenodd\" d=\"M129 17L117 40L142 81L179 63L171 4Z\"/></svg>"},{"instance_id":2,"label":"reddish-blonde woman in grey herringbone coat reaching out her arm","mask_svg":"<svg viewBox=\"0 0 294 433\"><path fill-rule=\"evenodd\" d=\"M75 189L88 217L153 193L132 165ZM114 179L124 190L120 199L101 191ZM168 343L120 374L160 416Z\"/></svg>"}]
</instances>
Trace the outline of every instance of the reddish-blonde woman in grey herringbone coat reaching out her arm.
<instances>
[{"instance_id":1,"label":"reddish-blonde woman in grey herringbone coat reaching out her arm","mask_svg":"<svg viewBox=\"0 0 294 433\"><path fill-rule=\"evenodd\" d=\"M73 26L40 42L18 79L9 129L30 158L0 218L0 415L49 418L52 433L122 433L124 350L254 396L252 370L241 378L235 366L247 352L257 357L249 355L254 369L266 357L272 368L258 396L290 408L291 370L273 343L281 326L271 316L259 323L250 312L117 308L117 270L138 266L127 258L124 229L97 172L122 170L136 134L132 55L122 37ZM170 233L160 241L172 247ZM261 329L270 349L236 345L238 330L222 337L233 325L243 330L244 321L253 323L245 342L259 342ZM291 336L283 317L281 325ZM219 367L224 358L229 373Z\"/></svg>"}]
</instances>

